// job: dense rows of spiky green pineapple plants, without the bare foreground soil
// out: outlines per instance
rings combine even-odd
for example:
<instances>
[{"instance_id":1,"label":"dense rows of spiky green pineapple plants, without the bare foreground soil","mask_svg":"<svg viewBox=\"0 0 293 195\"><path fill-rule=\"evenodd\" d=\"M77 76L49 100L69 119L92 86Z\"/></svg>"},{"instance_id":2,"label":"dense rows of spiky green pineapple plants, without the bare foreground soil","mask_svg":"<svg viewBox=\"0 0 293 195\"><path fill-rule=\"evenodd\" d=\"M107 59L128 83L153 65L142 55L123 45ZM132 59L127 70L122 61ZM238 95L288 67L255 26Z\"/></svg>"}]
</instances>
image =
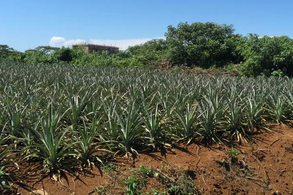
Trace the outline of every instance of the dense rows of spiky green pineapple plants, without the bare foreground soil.
<instances>
[{"instance_id":1,"label":"dense rows of spiky green pineapple plants, without the bare foreground soil","mask_svg":"<svg viewBox=\"0 0 293 195\"><path fill-rule=\"evenodd\" d=\"M129 156L190 141L246 142L268 129L266 122L293 119L287 77L0 62L0 78L6 187L18 161L57 179L61 170L98 166L103 154Z\"/></svg>"}]
</instances>

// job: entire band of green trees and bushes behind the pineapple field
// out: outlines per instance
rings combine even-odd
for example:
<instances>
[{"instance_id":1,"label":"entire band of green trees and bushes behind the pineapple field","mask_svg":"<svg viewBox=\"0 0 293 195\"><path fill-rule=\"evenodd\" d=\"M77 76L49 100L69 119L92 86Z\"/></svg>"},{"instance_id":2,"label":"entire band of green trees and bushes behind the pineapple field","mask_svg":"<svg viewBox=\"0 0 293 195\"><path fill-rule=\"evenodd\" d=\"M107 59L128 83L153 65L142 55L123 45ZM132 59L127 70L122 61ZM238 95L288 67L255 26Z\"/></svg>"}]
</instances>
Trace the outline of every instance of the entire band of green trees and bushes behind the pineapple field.
<instances>
[{"instance_id":1,"label":"entire band of green trees and bushes behind the pineapple field","mask_svg":"<svg viewBox=\"0 0 293 195\"><path fill-rule=\"evenodd\" d=\"M168 26L165 39L152 39L115 55L87 53L81 48L39 46L19 52L0 45L0 60L150 67L221 68L239 75L293 75L293 39L235 33L232 25L214 22Z\"/></svg>"}]
</instances>

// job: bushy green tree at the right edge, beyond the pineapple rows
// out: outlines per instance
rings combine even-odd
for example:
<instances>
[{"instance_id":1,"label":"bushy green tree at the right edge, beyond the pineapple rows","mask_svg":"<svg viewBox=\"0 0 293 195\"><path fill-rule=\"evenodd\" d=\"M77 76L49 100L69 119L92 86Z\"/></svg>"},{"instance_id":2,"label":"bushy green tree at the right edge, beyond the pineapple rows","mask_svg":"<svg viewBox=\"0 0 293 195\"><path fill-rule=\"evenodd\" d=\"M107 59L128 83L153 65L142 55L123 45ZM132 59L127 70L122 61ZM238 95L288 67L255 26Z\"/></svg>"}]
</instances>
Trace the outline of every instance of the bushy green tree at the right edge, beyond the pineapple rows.
<instances>
[{"instance_id":1,"label":"bushy green tree at the right edge, beyond the pineapple rows","mask_svg":"<svg viewBox=\"0 0 293 195\"><path fill-rule=\"evenodd\" d=\"M293 74L293 39L287 36L259 38L249 34L239 48L244 57L240 70L245 75Z\"/></svg>"}]
</instances>

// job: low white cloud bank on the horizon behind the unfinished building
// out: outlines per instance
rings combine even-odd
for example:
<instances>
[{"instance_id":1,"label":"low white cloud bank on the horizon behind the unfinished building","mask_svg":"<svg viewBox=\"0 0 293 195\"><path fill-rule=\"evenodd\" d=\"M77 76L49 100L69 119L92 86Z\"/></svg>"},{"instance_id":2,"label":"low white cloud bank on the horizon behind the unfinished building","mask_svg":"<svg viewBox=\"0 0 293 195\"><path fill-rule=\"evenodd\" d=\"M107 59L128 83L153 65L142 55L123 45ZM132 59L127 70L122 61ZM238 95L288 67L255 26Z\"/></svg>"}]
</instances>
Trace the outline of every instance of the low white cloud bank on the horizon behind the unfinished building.
<instances>
[{"instance_id":1,"label":"low white cloud bank on the horizon behind the unfinished building","mask_svg":"<svg viewBox=\"0 0 293 195\"><path fill-rule=\"evenodd\" d=\"M112 45L119 47L120 50L127 49L128 46L145 43L151 39L164 39L159 38L142 38L142 39L89 39L88 43L100 44L100 45ZM84 39L65 39L63 37L52 37L49 41L49 45L53 47L70 47L72 44L86 42Z\"/></svg>"}]
</instances>

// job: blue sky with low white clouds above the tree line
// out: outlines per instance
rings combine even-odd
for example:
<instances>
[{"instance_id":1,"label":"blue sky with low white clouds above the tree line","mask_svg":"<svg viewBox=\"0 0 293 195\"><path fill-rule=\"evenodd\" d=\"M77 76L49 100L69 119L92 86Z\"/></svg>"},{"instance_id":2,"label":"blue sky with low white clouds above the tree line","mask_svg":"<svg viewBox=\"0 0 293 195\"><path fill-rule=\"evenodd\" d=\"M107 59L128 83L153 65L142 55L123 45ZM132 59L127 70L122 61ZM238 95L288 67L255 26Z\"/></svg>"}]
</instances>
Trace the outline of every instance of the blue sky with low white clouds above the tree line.
<instances>
[{"instance_id":1,"label":"blue sky with low white clouds above the tree line","mask_svg":"<svg viewBox=\"0 0 293 195\"><path fill-rule=\"evenodd\" d=\"M126 48L179 22L293 37L292 0L0 0L0 44L24 51L86 41Z\"/></svg>"}]
</instances>

